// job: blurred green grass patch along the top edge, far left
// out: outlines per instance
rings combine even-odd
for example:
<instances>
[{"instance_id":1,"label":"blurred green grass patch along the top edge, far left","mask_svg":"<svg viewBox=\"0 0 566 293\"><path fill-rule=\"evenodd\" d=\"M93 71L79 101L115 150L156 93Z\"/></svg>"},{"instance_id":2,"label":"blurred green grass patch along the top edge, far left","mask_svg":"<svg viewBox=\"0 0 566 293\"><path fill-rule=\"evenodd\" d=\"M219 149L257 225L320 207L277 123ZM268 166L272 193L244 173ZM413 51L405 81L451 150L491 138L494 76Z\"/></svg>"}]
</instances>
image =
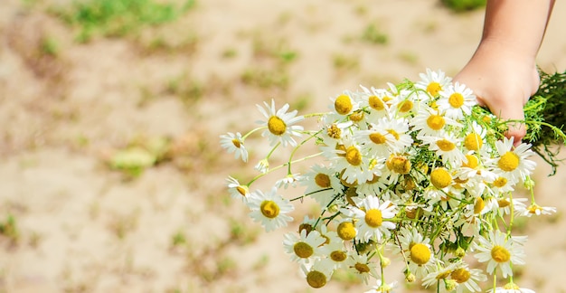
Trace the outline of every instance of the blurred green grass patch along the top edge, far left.
<instances>
[{"instance_id":1,"label":"blurred green grass patch along the top edge, far left","mask_svg":"<svg viewBox=\"0 0 566 293\"><path fill-rule=\"evenodd\" d=\"M142 27L173 22L194 4L195 0L184 5L154 0L84 0L51 11L65 23L79 27L77 41L86 43L95 35L122 37Z\"/></svg>"}]
</instances>

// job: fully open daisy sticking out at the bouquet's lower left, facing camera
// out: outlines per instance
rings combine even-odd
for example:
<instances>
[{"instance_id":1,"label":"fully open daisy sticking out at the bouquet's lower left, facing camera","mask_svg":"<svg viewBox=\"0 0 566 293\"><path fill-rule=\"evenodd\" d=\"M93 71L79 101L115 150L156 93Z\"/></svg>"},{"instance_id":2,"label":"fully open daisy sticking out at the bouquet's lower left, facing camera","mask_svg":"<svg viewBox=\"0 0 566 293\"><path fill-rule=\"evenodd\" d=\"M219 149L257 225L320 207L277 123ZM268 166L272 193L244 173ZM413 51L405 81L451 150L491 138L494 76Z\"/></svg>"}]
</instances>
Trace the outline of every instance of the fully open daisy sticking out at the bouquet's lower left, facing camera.
<instances>
[{"instance_id":1,"label":"fully open daisy sticking out at the bouquet's lower left, facing camera","mask_svg":"<svg viewBox=\"0 0 566 293\"><path fill-rule=\"evenodd\" d=\"M260 222L266 232L287 227L287 222L293 221L288 213L291 213L295 207L277 194L277 187L273 187L267 194L260 190L251 193L248 206L251 210L250 218L255 222Z\"/></svg>"}]
</instances>

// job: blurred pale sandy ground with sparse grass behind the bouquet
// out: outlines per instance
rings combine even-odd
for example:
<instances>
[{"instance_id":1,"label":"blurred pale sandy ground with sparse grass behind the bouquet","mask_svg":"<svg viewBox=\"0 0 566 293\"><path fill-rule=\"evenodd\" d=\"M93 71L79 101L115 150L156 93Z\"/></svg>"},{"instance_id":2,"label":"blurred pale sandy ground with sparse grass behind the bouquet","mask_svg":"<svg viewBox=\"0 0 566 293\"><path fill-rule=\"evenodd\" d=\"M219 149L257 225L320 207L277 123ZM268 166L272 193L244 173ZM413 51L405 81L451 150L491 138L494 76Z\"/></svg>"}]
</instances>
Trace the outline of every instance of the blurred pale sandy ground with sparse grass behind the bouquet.
<instances>
[{"instance_id":1,"label":"blurred pale sandy ground with sparse grass behind the bouquet","mask_svg":"<svg viewBox=\"0 0 566 293\"><path fill-rule=\"evenodd\" d=\"M314 292L283 232L260 232L226 194L225 177L249 171L218 136L252 127L263 100L324 110L359 84L453 75L483 21L432 0L207 0L174 23L82 44L48 13L69 2L0 3L0 223L12 217L16 231L0 235L0 292ZM363 41L370 24L386 43ZM564 25L559 1L546 71L566 70ZM135 146L158 148L158 164L133 178L108 165ZM519 280L566 292L566 168L547 178L539 162L538 203L559 213L524 226ZM364 288L343 278L320 291Z\"/></svg>"}]
</instances>

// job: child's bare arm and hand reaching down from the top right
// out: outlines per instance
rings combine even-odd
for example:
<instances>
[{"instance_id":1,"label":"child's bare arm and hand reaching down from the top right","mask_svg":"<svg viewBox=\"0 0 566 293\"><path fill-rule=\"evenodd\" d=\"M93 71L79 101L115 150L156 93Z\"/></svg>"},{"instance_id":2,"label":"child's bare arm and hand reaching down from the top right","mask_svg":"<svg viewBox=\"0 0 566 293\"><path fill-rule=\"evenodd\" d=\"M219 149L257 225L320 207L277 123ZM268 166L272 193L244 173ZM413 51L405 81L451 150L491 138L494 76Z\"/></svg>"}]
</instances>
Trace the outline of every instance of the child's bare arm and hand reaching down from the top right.
<instances>
[{"instance_id":1,"label":"child's bare arm and hand reaching down from the top right","mask_svg":"<svg viewBox=\"0 0 566 293\"><path fill-rule=\"evenodd\" d=\"M538 90L536 55L554 0L488 0L481 42L455 80L475 91L480 104L501 118L524 119L523 106ZM523 125L507 132L515 145Z\"/></svg>"}]
</instances>

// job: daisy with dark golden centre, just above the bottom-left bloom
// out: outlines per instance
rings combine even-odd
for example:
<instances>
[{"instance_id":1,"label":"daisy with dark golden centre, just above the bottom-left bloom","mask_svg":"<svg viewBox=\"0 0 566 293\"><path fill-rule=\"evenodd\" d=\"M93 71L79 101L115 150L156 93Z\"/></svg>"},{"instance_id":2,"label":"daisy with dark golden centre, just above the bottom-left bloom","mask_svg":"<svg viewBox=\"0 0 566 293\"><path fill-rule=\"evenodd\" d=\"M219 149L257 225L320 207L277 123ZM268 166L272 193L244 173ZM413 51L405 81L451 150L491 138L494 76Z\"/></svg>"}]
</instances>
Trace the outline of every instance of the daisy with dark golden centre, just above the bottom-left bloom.
<instances>
[{"instance_id":1,"label":"daisy with dark golden centre, just above the bottom-left bloom","mask_svg":"<svg viewBox=\"0 0 566 293\"><path fill-rule=\"evenodd\" d=\"M320 257L320 246L325 241L316 230L311 232L302 230L298 235L295 232L285 234L283 247L291 255L291 260L309 262Z\"/></svg>"}]
</instances>

